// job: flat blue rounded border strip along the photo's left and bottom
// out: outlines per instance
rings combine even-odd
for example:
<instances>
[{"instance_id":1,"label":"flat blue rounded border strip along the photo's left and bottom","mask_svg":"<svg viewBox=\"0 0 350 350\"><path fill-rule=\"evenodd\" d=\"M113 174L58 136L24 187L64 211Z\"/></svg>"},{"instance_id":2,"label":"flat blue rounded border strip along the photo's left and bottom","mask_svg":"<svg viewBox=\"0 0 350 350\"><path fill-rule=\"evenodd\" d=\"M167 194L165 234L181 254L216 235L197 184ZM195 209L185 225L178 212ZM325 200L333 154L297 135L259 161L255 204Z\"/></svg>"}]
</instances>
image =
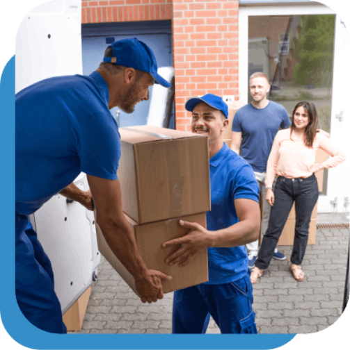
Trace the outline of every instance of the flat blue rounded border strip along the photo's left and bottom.
<instances>
[{"instance_id":1,"label":"flat blue rounded border strip along the photo's left and bottom","mask_svg":"<svg viewBox=\"0 0 350 350\"><path fill-rule=\"evenodd\" d=\"M2 288L0 317L3 328L15 343L28 349L96 349L101 346L148 349L201 347L220 345L238 349L278 349L291 342L296 334L259 335L171 335L171 334L67 334L47 333L30 324L15 299L15 55L4 65L0 78L1 113L0 150L3 217L3 253L0 255Z\"/></svg>"}]
</instances>

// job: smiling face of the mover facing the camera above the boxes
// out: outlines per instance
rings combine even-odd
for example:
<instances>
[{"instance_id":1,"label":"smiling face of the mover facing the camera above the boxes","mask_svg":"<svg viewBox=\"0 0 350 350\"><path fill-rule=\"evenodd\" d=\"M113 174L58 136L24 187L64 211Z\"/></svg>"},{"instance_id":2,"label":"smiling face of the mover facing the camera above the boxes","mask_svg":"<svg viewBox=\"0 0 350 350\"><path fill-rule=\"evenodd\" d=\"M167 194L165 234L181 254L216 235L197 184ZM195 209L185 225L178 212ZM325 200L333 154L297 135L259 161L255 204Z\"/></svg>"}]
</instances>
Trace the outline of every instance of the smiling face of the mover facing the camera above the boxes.
<instances>
[{"instance_id":1,"label":"smiling face of the mover facing the camera above the boxes","mask_svg":"<svg viewBox=\"0 0 350 350\"><path fill-rule=\"evenodd\" d=\"M220 140L221 131L228 125L228 119L222 116L220 110L212 108L205 102L198 103L192 112L191 131L207 135L209 145Z\"/></svg>"}]
</instances>

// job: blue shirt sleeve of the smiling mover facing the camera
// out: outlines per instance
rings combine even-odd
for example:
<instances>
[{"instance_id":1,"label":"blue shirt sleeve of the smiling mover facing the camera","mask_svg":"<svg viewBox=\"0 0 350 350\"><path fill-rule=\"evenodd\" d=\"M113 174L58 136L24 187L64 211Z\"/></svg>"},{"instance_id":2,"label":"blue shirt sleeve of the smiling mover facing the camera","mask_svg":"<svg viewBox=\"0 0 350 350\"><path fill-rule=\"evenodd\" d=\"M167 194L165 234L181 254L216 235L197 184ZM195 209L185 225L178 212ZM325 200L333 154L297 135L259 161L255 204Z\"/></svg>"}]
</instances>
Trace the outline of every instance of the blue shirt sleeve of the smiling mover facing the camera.
<instances>
[{"instance_id":1,"label":"blue shirt sleeve of the smiling mover facing the camera","mask_svg":"<svg viewBox=\"0 0 350 350\"><path fill-rule=\"evenodd\" d=\"M233 199L239 198L252 199L257 203L260 200L259 185L257 185L253 169L248 163L239 169L235 179Z\"/></svg>"}]
</instances>

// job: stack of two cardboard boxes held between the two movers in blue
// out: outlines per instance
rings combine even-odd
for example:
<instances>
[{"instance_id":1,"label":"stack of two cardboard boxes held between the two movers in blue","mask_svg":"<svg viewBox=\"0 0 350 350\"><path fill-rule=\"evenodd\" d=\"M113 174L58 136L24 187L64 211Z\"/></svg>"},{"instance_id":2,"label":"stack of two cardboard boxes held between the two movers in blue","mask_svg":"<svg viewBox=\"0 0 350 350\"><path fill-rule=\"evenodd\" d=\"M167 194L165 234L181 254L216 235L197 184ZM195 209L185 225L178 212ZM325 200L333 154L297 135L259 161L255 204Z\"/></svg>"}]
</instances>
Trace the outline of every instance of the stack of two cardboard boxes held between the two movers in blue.
<instances>
[{"instance_id":1,"label":"stack of two cardboard boxes held between the two movers in blue","mask_svg":"<svg viewBox=\"0 0 350 350\"><path fill-rule=\"evenodd\" d=\"M180 219L206 227L205 212L210 210L207 137L154 126L119 131L122 209L145 264L173 277L163 283L164 292L208 281L206 250L185 267L170 267L164 263L170 250L161 249L170 238L188 233L178 224ZM136 292L134 278L113 254L98 225L96 232L100 252Z\"/></svg>"}]
</instances>

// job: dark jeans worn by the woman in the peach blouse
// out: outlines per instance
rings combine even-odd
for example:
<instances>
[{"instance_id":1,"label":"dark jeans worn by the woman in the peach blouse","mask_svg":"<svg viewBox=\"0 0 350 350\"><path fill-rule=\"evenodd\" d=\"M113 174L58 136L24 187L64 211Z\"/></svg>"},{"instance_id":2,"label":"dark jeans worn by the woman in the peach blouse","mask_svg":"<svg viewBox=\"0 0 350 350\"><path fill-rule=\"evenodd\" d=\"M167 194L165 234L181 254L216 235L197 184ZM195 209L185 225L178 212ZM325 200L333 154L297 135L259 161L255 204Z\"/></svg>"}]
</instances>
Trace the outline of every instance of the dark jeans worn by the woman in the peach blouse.
<instances>
[{"instance_id":1,"label":"dark jeans worn by the woman in the peach blouse","mask_svg":"<svg viewBox=\"0 0 350 350\"><path fill-rule=\"evenodd\" d=\"M269 227L267 228L255 266L267 269L272 254L295 201L295 235L290 261L300 265L308 244L309 226L312 210L319 198L319 188L315 174L308 178L285 178L279 176L274 190L275 202L271 208Z\"/></svg>"}]
</instances>

